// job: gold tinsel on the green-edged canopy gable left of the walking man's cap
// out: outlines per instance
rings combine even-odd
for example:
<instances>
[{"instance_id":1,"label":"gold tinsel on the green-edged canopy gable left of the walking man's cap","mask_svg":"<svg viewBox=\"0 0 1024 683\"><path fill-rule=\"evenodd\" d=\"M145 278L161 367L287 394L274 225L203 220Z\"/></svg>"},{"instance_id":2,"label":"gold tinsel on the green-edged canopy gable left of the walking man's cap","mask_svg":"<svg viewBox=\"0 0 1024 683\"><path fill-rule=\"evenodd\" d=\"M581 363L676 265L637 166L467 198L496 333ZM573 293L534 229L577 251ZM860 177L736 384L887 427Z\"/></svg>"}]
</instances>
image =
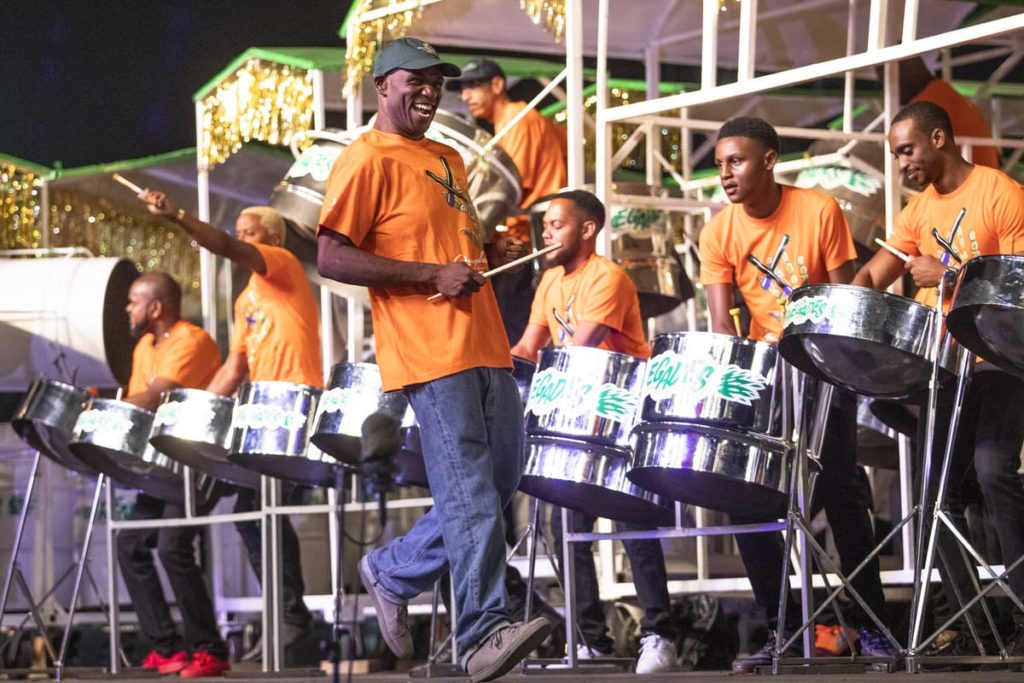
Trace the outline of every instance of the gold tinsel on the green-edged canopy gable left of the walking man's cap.
<instances>
[{"instance_id":1,"label":"gold tinsel on the green-edged canopy gable left of the walking man's cap","mask_svg":"<svg viewBox=\"0 0 1024 683\"><path fill-rule=\"evenodd\" d=\"M289 144L312 128L312 103L308 71L249 59L203 98L200 170L224 162L243 142Z\"/></svg>"}]
</instances>

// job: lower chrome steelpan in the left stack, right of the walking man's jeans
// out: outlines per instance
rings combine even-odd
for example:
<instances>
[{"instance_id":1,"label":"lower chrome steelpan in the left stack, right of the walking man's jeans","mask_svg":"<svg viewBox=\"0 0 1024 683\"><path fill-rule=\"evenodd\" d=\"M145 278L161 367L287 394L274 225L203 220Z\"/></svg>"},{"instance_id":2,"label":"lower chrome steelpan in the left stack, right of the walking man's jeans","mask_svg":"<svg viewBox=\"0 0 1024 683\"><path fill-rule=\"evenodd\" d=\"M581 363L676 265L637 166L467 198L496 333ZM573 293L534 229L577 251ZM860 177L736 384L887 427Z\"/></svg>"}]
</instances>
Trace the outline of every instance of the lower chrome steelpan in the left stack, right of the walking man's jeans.
<instances>
[{"instance_id":1,"label":"lower chrome steelpan in the left stack, right of the walking man's jeans","mask_svg":"<svg viewBox=\"0 0 1024 683\"><path fill-rule=\"evenodd\" d=\"M651 526L675 523L672 508L627 478L629 452L578 439L528 436L519 490L592 517Z\"/></svg>"}]
</instances>

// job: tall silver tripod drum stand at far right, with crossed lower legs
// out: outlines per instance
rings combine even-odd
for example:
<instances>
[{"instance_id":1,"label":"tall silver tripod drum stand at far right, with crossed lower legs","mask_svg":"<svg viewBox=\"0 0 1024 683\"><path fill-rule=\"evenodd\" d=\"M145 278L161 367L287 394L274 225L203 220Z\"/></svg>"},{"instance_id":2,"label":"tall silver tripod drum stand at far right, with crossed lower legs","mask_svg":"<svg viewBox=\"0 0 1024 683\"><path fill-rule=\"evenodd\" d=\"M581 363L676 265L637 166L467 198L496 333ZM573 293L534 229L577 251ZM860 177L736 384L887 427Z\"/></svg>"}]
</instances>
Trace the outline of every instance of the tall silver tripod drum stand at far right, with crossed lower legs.
<instances>
[{"instance_id":1,"label":"tall silver tripod drum stand at far right, with crossed lower legs","mask_svg":"<svg viewBox=\"0 0 1024 683\"><path fill-rule=\"evenodd\" d=\"M979 553L964 536L964 533L956 528L956 525L949 516L948 508L946 506L946 494L949 488L949 472L952 464L953 447L956 442L956 430L959 425L961 410L964 403L964 395L967 391L967 384L970 381L972 371L975 365L975 355L968 352L965 349L963 357L961 358L959 368L957 369L956 378L956 390L953 396L952 413L949 417L948 434L946 437L945 447L943 450L941 471L939 473L939 485L938 490L935 495L934 501L929 501L929 482L932 476L932 456L935 450L935 426L937 422L937 404L938 404L938 366L939 366L939 351L942 331L943 331L943 285L940 284L937 288L938 295L936 297L936 334L935 334L935 347L933 351L935 352L935 362L932 369L932 380L929 390L929 402L928 402L928 432L926 435L926 442L924 449L924 473L921 482L921 498L920 502L915 506L914 511L919 515L918 521L918 563L914 567L914 593L913 601L911 603L910 610L910 634L908 638L908 647L906 650L906 670L909 673L916 673L920 667L920 655L922 649L927 647L935 638L942 633L946 628L952 625L956 620L964 615L967 622L968 629L971 632L972 638L975 641L978 651L984 651L981 644L981 639L978 635L977 628L975 627L974 621L969 613L970 610L976 603L980 602L982 611L985 615L985 620L988 622L989 629L995 638L997 647L999 648L997 656L970 656L970 657L957 657L957 659L965 659L976 664L999 664L1008 663L1008 655L1006 646L999 636L998 629L995 626L995 622L992 617L991 611L988 605L984 601L984 597L992 591L996 586L1002 589L1007 597L1009 597L1017 609L1024 611L1024 603L1021 602L1020 596L1016 595L1007 583L1007 578L1010 572L1016 569L1022 562L1024 562L1024 556L1018 557L1014 562L1004 568L1001 573L996 573L996 571L985 561L981 553ZM913 513L911 513L913 514ZM948 530L956 542L959 544L959 557L946 557L945 553L938 546L938 535L941 530ZM928 537L927 549L925 546L925 537ZM949 618L939 626L931 635L927 638L923 636L925 611L928 603L929 589L931 587L931 575L932 569L935 566L936 552L940 555L944 563L963 561L968 565L969 573L972 580L972 584L975 590L975 595L969 600L965 601L967 596L961 594L959 587L956 586L955 582L951 582L953 593L956 596L957 602L959 603L959 609L952 613ZM965 554L966 553L966 554ZM970 557L968 557L970 556ZM977 572L975 570L974 564L970 561L974 560L979 566L981 566L990 583L982 588L977 580ZM950 657L951 658L951 657ZM1009 663L1017 663L1020 657L1014 657Z\"/></svg>"}]
</instances>

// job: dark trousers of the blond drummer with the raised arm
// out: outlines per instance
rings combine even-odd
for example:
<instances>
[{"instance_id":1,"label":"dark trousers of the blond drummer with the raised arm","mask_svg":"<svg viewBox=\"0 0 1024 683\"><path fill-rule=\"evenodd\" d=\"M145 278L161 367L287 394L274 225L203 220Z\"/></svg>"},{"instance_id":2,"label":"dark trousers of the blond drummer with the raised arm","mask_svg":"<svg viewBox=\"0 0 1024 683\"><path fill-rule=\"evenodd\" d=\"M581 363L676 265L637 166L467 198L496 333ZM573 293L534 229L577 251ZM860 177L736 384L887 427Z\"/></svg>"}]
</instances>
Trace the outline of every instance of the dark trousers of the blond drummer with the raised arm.
<instances>
[{"instance_id":1,"label":"dark trousers of the blond drummer with the raised arm","mask_svg":"<svg viewBox=\"0 0 1024 683\"><path fill-rule=\"evenodd\" d=\"M252 512L259 509L257 492L252 488L239 488L234 500L234 512ZM285 505L302 505L305 502L306 486L282 483L282 502ZM249 554L249 564L256 572L256 579L263 584L263 538L260 524L256 521L236 522L234 528L242 537L242 543ZM281 583L282 583L282 621L285 624L305 628L312 622L312 614L306 607L302 596L306 586L302 581L302 556L299 550L299 537L287 516L281 518Z\"/></svg>"}]
</instances>

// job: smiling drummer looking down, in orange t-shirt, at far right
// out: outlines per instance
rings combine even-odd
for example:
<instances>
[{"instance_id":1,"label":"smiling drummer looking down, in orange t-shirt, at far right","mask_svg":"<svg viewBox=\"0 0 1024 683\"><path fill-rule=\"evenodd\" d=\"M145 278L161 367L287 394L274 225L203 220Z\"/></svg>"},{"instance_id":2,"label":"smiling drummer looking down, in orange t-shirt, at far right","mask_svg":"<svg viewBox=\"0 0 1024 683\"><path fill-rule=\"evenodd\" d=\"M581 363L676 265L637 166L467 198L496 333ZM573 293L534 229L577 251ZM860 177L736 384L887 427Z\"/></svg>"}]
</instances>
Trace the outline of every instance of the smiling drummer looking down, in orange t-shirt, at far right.
<instances>
[{"instance_id":1,"label":"smiling drummer looking down, in orange t-shirt, at far right","mask_svg":"<svg viewBox=\"0 0 1024 683\"><path fill-rule=\"evenodd\" d=\"M886 240L910 259L904 263L880 249L857 272L854 285L882 290L909 272L921 288L916 300L934 307L939 285L950 283L953 271L968 259L1024 253L1024 189L1001 171L965 160L956 150L949 116L941 106L916 101L900 110L889 129L889 146L903 178L922 188L900 211ZM946 301L948 293L947 289ZM941 391L939 399L934 463L941 463L946 443L952 387ZM973 463L1007 566L1024 554L1024 487L1018 474L1024 443L1022 404L1024 380L991 364L978 364L964 399L950 474L955 484ZM938 476L930 483L934 495ZM950 486L946 503L953 516L963 520L957 486ZM957 544L948 533L940 533L939 540L947 557L959 557ZM965 595L973 594L971 577L963 563L951 562L946 570L952 582L968 591ZM943 583L946 590L951 590L952 582ZM1024 599L1024 568L1010 574L1010 587ZM957 604L954 595L950 603ZM978 615L976 626L984 630L985 620L979 612L973 613ZM1024 613L1015 609L1014 622L1016 632L1008 651L1011 656L1020 656L1024 655ZM985 635L986 649L994 648L991 634ZM965 647L972 647L966 634L962 641Z\"/></svg>"}]
</instances>

